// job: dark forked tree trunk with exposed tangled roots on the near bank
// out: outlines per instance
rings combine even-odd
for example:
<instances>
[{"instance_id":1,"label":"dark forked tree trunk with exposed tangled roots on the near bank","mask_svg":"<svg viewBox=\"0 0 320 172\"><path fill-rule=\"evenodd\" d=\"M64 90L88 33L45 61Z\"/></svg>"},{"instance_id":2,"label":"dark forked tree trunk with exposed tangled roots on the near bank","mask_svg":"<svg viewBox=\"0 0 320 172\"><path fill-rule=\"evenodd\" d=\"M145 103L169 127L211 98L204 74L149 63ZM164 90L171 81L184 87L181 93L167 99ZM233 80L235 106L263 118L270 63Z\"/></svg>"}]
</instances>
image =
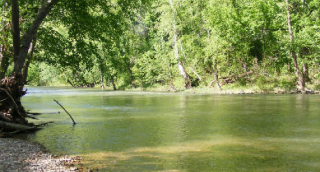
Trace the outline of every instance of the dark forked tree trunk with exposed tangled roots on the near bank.
<instances>
[{"instance_id":1,"label":"dark forked tree trunk with exposed tangled roots on the near bank","mask_svg":"<svg viewBox=\"0 0 320 172\"><path fill-rule=\"evenodd\" d=\"M23 91L25 84L25 78L27 77L27 71L24 71L25 78L23 76L22 69L25 66L28 67L28 64L25 64L28 50L33 38L37 34L37 30L40 27L42 21L51 11L52 7L58 3L59 0L48 0L38 11L34 21L32 22L29 29L26 31L25 35L20 42L20 27L19 27L19 1L11 0L11 14L12 14L12 38L13 38L13 52L14 52L14 68L13 75L10 78L3 78L0 80L0 132L11 132L28 130L28 127L32 126L26 120L26 117L29 117L21 105L21 97L25 95L26 91ZM20 45L21 44L21 45ZM34 47L33 47L34 48ZM3 48L1 48L3 50ZM3 54L3 53L1 53ZM4 69L3 61L4 57L1 58L1 68ZM21 124L27 126L26 128L21 125L12 125ZM0 133L1 135L2 133Z\"/></svg>"}]
</instances>

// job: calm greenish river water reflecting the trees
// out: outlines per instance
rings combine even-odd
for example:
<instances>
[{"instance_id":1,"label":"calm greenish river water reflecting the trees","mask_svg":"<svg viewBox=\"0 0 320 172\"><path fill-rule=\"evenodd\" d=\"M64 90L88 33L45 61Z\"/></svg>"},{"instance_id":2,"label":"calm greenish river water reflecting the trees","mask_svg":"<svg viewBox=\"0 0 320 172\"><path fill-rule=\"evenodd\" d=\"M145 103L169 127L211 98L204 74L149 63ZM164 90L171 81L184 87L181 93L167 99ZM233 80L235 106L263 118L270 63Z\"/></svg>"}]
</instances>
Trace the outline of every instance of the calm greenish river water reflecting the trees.
<instances>
[{"instance_id":1,"label":"calm greenish river water reflecting the trees","mask_svg":"<svg viewBox=\"0 0 320 172\"><path fill-rule=\"evenodd\" d=\"M54 121L27 139L102 171L317 171L319 95L197 95L30 87ZM58 100L73 116L53 101Z\"/></svg>"}]
</instances>

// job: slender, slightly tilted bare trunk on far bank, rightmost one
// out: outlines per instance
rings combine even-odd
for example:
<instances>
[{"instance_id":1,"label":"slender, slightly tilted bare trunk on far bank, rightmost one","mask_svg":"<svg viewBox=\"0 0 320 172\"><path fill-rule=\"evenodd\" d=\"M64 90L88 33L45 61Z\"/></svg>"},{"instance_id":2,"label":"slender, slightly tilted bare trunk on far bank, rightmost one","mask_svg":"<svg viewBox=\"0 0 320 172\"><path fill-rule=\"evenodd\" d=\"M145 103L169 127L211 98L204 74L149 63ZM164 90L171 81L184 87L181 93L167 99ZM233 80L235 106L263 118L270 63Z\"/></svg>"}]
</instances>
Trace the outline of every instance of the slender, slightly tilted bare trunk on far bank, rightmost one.
<instances>
[{"instance_id":1,"label":"slender, slightly tilted bare trunk on far bank, rightmost one","mask_svg":"<svg viewBox=\"0 0 320 172\"><path fill-rule=\"evenodd\" d=\"M293 32L292 32L292 25L291 25L291 17L290 17L290 9L289 9L289 3L288 0L285 0L286 5L287 5L287 15L288 15L288 29L289 29L289 37L290 37L290 54L292 56L293 64L296 70L296 75L298 77L298 89L304 91L305 87L305 82L303 80L303 76L300 72L299 66L298 66L298 61L297 61L297 54L294 51L293 48L293 43L294 43L294 37L293 37Z\"/></svg>"}]
</instances>

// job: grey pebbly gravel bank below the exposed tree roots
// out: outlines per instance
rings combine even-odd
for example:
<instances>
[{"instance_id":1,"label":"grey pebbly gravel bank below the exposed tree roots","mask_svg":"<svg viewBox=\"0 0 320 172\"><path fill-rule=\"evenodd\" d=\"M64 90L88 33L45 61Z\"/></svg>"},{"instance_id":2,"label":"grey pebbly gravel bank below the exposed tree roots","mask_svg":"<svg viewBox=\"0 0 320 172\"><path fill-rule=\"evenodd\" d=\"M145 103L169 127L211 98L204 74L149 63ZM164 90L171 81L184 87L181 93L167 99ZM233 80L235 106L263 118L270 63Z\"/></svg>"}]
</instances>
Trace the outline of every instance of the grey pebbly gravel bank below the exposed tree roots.
<instances>
[{"instance_id":1,"label":"grey pebbly gravel bank below the exposed tree roots","mask_svg":"<svg viewBox=\"0 0 320 172\"><path fill-rule=\"evenodd\" d=\"M44 147L24 140L0 138L0 171L82 171L79 157L57 157Z\"/></svg>"}]
</instances>

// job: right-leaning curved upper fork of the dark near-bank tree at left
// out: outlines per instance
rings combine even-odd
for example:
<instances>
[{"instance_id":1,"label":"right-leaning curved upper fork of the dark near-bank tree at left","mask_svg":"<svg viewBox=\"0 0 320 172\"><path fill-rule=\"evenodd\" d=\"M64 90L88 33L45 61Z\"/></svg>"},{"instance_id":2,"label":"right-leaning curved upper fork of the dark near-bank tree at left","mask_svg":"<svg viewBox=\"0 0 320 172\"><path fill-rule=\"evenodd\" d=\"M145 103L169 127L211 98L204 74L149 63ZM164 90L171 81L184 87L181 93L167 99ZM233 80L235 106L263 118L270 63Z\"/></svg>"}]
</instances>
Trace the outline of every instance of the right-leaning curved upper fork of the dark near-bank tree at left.
<instances>
[{"instance_id":1,"label":"right-leaning curved upper fork of the dark near-bank tree at left","mask_svg":"<svg viewBox=\"0 0 320 172\"><path fill-rule=\"evenodd\" d=\"M12 1L17 1L17 0L12 0ZM19 56L18 58L14 59L14 69L13 69L14 73L22 72L22 68L26 61L28 50L29 50L31 41L34 38L34 35L37 34L37 30L40 27L41 23L47 17L47 15L49 14L53 6L58 3L58 1L59 0L51 0L51 1L48 1L44 6L42 6L36 18L34 19L33 23L31 24L31 26L23 36L23 39L22 39L23 41L20 49L15 50L15 51L19 51ZM19 19L19 16L18 16L18 19ZM17 33L15 34L17 35Z\"/></svg>"}]
</instances>

